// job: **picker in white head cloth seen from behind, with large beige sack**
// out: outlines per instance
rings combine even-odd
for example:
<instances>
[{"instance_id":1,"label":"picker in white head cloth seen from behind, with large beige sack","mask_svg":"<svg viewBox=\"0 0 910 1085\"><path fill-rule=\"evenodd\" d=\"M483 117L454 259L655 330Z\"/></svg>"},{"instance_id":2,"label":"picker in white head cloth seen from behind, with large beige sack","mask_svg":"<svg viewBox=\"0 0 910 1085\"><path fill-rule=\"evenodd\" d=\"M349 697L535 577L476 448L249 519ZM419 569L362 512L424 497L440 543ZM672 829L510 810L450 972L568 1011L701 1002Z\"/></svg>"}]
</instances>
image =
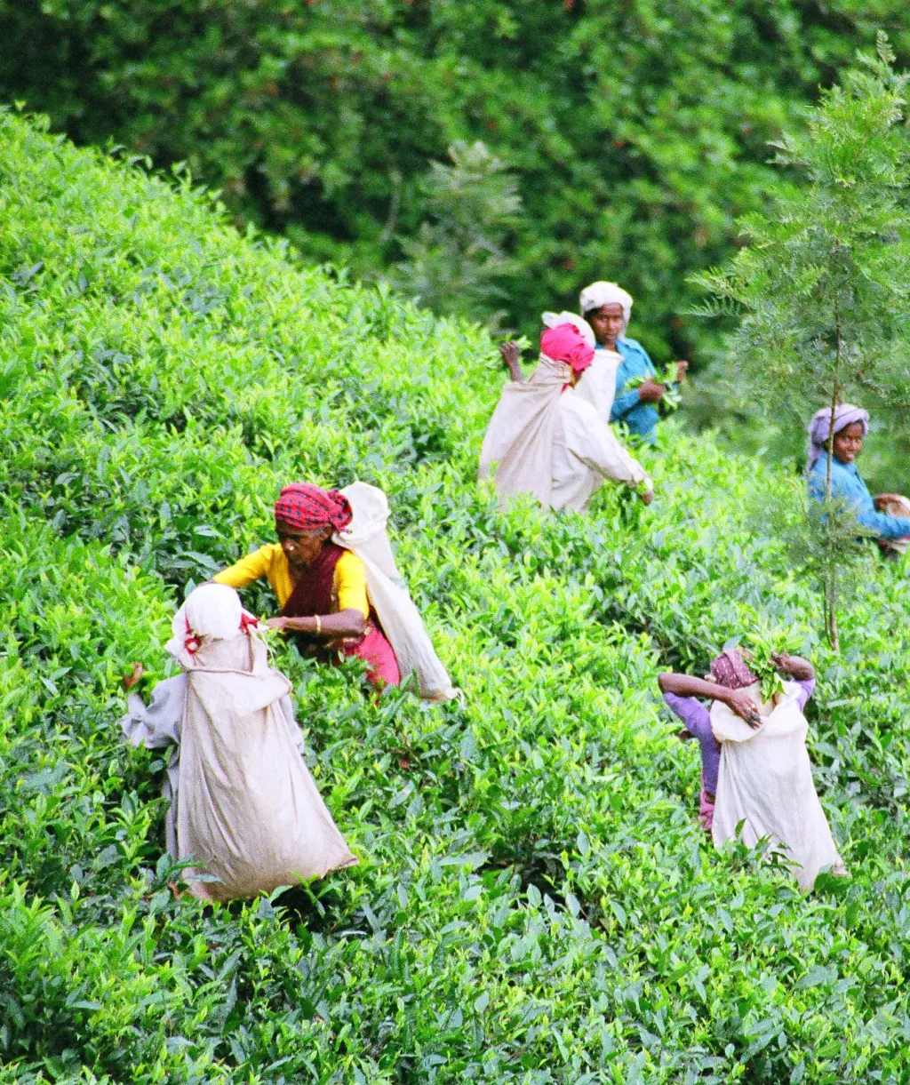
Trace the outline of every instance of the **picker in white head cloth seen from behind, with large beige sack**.
<instances>
[{"instance_id":1,"label":"picker in white head cloth seen from behind, with large beige sack","mask_svg":"<svg viewBox=\"0 0 910 1085\"><path fill-rule=\"evenodd\" d=\"M167 644L182 673L158 682L148 706L132 693L120 719L133 745L175 746L163 788L167 850L193 859L187 878L204 899L269 893L357 863L307 770L291 684L269 666L257 625L233 588L196 588ZM141 677L136 664L125 688Z\"/></svg>"}]
</instances>

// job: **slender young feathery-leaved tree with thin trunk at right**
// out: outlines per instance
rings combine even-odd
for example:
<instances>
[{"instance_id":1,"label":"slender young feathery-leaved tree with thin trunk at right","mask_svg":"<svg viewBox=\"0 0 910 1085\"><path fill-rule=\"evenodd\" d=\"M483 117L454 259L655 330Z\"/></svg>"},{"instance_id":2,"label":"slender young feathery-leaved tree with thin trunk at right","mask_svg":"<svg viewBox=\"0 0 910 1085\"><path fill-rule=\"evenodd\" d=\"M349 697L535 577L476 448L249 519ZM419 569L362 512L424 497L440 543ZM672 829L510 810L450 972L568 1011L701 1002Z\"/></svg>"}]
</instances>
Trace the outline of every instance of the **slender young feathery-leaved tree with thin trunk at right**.
<instances>
[{"instance_id":1,"label":"slender young feathery-leaved tree with thin trunk at right","mask_svg":"<svg viewBox=\"0 0 910 1085\"><path fill-rule=\"evenodd\" d=\"M743 221L746 246L695 280L716 299L703 312L741 316L729 359L767 412L831 410L825 499L808 518L805 553L834 648L843 578L861 553L861 529L832 499L834 411L853 397L906 403L910 381L910 77L894 72L884 35L876 55L859 59L773 144L782 174L769 212Z\"/></svg>"}]
</instances>

